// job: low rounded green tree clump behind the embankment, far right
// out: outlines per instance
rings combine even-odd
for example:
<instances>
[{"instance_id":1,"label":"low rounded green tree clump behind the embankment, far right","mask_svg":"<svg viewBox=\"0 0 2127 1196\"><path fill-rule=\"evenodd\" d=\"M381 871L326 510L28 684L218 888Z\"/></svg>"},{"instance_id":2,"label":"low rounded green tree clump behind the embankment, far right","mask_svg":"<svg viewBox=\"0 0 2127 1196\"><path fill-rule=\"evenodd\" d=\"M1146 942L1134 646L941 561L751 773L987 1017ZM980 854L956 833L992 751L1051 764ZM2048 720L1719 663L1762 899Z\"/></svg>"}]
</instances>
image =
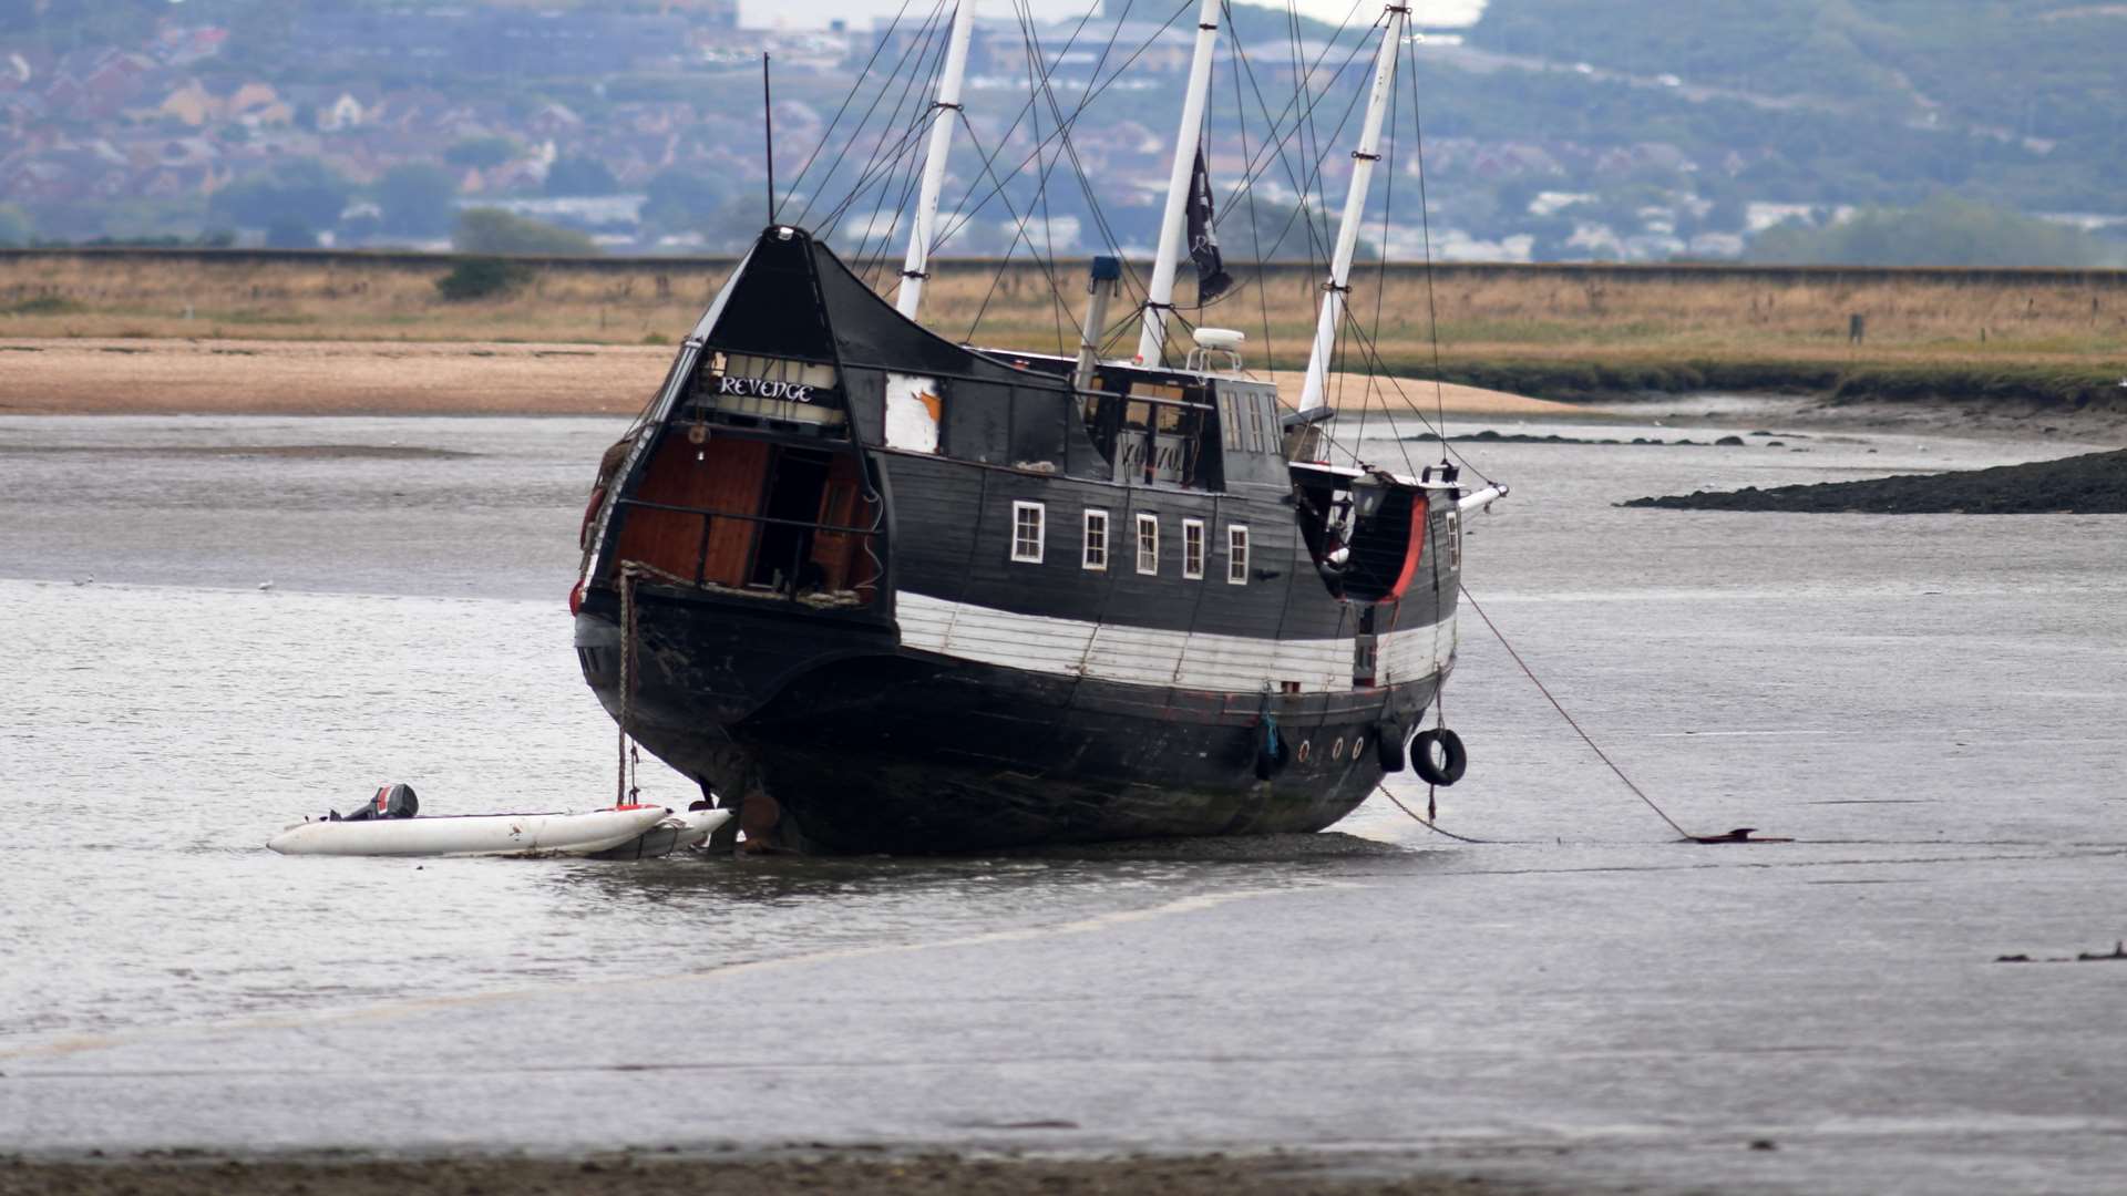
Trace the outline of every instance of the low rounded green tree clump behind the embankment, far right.
<instances>
[{"instance_id":1,"label":"low rounded green tree clump behind the embankment, far right","mask_svg":"<svg viewBox=\"0 0 2127 1196\"><path fill-rule=\"evenodd\" d=\"M2123 253L2074 226L1938 196L1914 209L1863 209L1827 228L1768 228L1748 255L1782 266L2110 266Z\"/></svg>"}]
</instances>

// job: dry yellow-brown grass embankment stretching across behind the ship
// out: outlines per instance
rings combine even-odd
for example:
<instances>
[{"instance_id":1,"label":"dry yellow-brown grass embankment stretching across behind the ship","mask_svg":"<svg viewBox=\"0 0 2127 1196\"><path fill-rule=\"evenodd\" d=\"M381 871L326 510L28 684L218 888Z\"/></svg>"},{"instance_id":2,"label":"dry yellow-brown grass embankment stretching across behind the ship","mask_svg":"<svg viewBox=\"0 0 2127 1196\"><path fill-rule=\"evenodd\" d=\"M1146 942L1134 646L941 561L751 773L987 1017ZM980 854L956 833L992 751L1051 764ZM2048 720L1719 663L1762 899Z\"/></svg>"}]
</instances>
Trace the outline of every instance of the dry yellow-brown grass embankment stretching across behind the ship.
<instances>
[{"instance_id":1,"label":"dry yellow-brown grass embankment stretching across behind the ship","mask_svg":"<svg viewBox=\"0 0 2127 1196\"><path fill-rule=\"evenodd\" d=\"M538 260L500 298L447 302L447 258L391 253L0 253L0 338L672 343L730 262ZM1055 349L1076 268L942 262L925 319L991 345ZM1061 292L1061 304L1059 296ZM1251 334L1251 366L1300 364L1317 279L1272 266L1208 309ZM2127 272L1731 266L1361 270L1351 309L1393 372L1544 398L1787 389L1853 400L2112 404L2127 362ZM1848 340L1863 315L1865 338ZM1268 332L1268 336L1266 336ZM1268 345L1268 349L1266 349ZM1268 358L1268 360L1266 360ZM1346 343L1346 368L1361 349Z\"/></svg>"}]
</instances>

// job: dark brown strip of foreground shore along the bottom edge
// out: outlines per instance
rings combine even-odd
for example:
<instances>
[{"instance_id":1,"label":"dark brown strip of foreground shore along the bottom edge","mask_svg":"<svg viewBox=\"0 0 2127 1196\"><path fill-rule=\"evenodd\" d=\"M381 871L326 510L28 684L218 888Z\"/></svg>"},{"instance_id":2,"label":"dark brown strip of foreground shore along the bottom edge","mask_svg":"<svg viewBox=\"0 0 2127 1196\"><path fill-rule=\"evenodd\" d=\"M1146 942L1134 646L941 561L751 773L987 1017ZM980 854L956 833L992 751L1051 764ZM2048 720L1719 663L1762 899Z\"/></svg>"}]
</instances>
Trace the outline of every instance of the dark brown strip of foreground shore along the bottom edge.
<instances>
[{"instance_id":1,"label":"dark brown strip of foreground shore along the bottom edge","mask_svg":"<svg viewBox=\"0 0 2127 1196\"><path fill-rule=\"evenodd\" d=\"M1359 1170L1359 1168L1355 1168ZM1372 1170L1372 1168L1363 1168ZM1027 1160L925 1156L602 1156L591 1160L447 1158L334 1160L145 1156L125 1160L0 1160L0 1196L400 1196L400 1194L932 1194L932 1196L1536 1196L1478 1177L1329 1175L1300 1156Z\"/></svg>"}]
</instances>

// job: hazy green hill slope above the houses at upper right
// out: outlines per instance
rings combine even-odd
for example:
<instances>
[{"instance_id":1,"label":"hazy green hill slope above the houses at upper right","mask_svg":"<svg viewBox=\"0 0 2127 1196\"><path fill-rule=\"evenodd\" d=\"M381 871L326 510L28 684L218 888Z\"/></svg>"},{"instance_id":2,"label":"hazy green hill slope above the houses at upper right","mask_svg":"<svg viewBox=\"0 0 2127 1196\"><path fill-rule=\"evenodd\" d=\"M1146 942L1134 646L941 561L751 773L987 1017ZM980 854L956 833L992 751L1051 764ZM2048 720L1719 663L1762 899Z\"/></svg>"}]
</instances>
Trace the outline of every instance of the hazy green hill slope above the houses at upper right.
<instances>
[{"instance_id":1,"label":"hazy green hill slope above the houses at upper right","mask_svg":"<svg viewBox=\"0 0 2127 1196\"><path fill-rule=\"evenodd\" d=\"M2116 211L2127 187L2127 4L1491 0L1470 40L1674 77L1670 89L1704 96L1716 119L1648 109L1651 126L1682 123L1687 143L1757 140L1810 168L1827 198L1957 187L2021 209Z\"/></svg>"}]
</instances>

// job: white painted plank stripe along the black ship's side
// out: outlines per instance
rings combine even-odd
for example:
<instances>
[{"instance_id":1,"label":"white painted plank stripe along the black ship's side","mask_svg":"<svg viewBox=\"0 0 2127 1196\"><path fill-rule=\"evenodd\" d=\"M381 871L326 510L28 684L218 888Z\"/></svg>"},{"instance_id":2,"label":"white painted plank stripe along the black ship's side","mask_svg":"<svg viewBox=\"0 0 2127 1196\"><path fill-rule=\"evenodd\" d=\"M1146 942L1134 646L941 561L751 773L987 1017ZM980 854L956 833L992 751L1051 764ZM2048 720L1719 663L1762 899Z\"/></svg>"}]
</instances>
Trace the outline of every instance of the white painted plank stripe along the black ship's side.
<instances>
[{"instance_id":1,"label":"white painted plank stripe along the black ship's side","mask_svg":"<svg viewBox=\"0 0 2127 1196\"><path fill-rule=\"evenodd\" d=\"M1274 641L1166 632L902 592L902 645L978 664L1129 685L1180 685L1259 694L1300 683L1304 694L1351 690L1353 638ZM1376 638L1376 683L1419 681L1455 660L1455 617Z\"/></svg>"}]
</instances>

